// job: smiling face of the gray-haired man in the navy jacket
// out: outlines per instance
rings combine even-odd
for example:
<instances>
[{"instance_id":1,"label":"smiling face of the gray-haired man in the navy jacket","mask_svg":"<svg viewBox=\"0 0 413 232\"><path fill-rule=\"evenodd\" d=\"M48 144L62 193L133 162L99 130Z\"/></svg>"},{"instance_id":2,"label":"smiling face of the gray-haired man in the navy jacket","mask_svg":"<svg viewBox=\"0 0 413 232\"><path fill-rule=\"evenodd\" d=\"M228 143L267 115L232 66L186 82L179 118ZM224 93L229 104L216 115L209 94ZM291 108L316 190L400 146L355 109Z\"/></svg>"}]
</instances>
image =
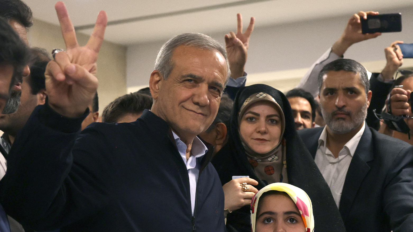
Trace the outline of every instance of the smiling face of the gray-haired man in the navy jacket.
<instances>
[{"instance_id":1,"label":"smiling face of the gray-haired man in the navy jacket","mask_svg":"<svg viewBox=\"0 0 413 232\"><path fill-rule=\"evenodd\" d=\"M218 112L221 94L228 75L227 64L218 51L179 46L172 56L173 69L169 77L151 92L155 99L152 111L164 119L181 138L196 136L209 125ZM159 88L159 91L153 92Z\"/></svg>"}]
</instances>

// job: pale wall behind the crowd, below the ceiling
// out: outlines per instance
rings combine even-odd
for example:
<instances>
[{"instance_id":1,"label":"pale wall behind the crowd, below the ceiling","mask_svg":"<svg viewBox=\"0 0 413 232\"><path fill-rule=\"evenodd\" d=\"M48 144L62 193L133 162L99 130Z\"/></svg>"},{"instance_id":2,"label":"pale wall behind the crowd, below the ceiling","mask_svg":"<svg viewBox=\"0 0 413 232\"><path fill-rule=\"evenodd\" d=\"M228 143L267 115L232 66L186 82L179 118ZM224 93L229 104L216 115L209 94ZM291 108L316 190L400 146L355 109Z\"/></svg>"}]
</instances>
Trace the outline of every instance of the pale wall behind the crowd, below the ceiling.
<instances>
[{"instance_id":1,"label":"pale wall behind the crowd, below the ceiling","mask_svg":"<svg viewBox=\"0 0 413 232\"><path fill-rule=\"evenodd\" d=\"M402 32L383 33L378 38L357 43L349 48L344 57L355 59L363 64L369 64L370 71L380 71L384 64L385 47L395 40L413 43L413 15L411 14L413 7L389 9L380 13L395 12L402 13ZM274 83L274 79L289 79L291 81L285 81L282 86L287 87L287 90L290 89L287 85L293 88L299 82L299 77L304 75L306 69L341 36L350 17L351 15L346 15L294 24L260 27L259 16L256 16L256 26L249 46L247 73L254 74L250 77L257 78L258 82L265 82L270 85L273 85L271 83ZM244 20L244 26L246 27L248 20ZM236 22L234 21L234 30L236 29L235 26ZM224 44L223 36L225 33L228 33L228 31L206 34ZM128 91L135 91L148 86L157 52L165 42L155 41L128 46L126 69ZM292 71L285 72L285 70ZM247 84L254 82L254 80L248 80Z\"/></svg>"}]
</instances>

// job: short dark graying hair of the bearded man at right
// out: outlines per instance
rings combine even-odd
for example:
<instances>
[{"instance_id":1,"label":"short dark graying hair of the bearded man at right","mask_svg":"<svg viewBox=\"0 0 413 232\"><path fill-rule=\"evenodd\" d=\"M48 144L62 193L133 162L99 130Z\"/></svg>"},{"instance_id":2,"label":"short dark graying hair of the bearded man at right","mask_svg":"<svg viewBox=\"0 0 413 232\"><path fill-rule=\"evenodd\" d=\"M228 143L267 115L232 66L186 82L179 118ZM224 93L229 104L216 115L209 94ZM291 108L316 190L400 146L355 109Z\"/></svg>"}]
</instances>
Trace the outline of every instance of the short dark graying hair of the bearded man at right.
<instances>
[{"instance_id":1,"label":"short dark graying hair of the bearded man at right","mask_svg":"<svg viewBox=\"0 0 413 232\"><path fill-rule=\"evenodd\" d=\"M321 92L321 86L323 86L323 76L329 71L349 71L358 73L360 75L360 82L364 86L366 93L370 90L370 81L368 80L367 71L360 63L352 59L337 59L333 62L326 64L321 69L318 75L318 90Z\"/></svg>"}]
</instances>

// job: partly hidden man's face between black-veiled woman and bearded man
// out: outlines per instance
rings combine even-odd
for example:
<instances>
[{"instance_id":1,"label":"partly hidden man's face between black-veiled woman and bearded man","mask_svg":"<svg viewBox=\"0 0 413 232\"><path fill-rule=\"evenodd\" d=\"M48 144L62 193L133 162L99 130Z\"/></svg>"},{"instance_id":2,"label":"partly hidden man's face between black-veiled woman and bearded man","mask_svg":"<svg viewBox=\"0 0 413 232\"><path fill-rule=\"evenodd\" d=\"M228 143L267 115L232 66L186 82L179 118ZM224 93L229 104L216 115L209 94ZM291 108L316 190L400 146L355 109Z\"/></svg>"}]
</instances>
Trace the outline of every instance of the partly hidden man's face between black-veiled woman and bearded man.
<instances>
[{"instance_id":1,"label":"partly hidden man's face between black-veiled woman and bearded man","mask_svg":"<svg viewBox=\"0 0 413 232\"><path fill-rule=\"evenodd\" d=\"M310 102L303 97L289 97L296 130L314 127Z\"/></svg>"}]
</instances>

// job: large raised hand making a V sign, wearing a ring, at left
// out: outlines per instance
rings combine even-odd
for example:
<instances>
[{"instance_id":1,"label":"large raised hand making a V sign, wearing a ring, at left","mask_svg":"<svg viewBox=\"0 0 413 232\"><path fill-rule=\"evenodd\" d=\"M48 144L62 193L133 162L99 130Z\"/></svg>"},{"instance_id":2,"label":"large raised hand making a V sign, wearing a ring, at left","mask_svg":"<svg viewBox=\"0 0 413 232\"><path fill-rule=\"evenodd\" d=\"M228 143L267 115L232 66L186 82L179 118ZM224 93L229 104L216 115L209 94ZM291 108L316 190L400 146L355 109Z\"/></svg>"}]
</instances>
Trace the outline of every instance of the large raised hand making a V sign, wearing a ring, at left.
<instances>
[{"instance_id":1,"label":"large raised hand making a V sign, wearing a ring, at left","mask_svg":"<svg viewBox=\"0 0 413 232\"><path fill-rule=\"evenodd\" d=\"M99 13L88 43L81 47L64 3L57 2L55 9L66 51L56 53L55 59L47 64L46 93L52 109L74 118L85 112L97 90L96 62L103 43L107 15L104 11Z\"/></svg>"}]
</instances>

